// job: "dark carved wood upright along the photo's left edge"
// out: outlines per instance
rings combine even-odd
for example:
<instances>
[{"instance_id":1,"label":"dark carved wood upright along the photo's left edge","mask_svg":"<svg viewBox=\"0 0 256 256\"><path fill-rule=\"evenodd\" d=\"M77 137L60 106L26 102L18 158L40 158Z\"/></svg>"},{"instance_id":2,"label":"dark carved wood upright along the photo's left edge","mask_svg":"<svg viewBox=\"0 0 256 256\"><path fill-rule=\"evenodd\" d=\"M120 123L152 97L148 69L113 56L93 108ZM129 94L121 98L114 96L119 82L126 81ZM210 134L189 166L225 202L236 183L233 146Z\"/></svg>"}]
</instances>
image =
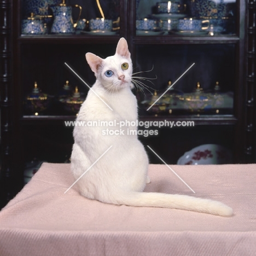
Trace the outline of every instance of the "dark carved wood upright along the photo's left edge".
<instances>
[{"instance_id":1,"label":"dark carved wood upright along the photo's left edge","mask_svg":"<svg viewBox=\"0 0 256 256\"><path fill-rule=\"evenodd\" d=\"M13 115L11 102L11 0L0 0L0 110L1 110L1 172L0 208L11 197L13 176Z\"/></svg>"}]
</instances>

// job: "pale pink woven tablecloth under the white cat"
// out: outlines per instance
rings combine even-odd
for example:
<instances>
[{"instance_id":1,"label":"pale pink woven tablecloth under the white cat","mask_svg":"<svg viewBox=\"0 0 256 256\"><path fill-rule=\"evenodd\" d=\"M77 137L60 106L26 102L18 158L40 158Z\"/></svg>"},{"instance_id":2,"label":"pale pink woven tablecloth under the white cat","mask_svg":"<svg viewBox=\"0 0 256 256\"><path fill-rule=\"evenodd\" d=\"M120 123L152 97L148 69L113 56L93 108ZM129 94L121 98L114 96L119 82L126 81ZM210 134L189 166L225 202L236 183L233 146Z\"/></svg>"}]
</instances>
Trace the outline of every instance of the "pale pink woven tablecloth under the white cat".
<instances>
[{"instance_id":1,"label":"pale pink woven tablecloth under the white cat","mask_svg":"<svg viewBox=\"0 0 256 256\"><path fill-rule=\"evenodd\" d=\"M69 164L43 164L0 212L0 255L256 255L256 165L172 166L234 216L107 205L80 196ZM146 191L194 195L165 165Z\"/></svg>"}]
</instances>

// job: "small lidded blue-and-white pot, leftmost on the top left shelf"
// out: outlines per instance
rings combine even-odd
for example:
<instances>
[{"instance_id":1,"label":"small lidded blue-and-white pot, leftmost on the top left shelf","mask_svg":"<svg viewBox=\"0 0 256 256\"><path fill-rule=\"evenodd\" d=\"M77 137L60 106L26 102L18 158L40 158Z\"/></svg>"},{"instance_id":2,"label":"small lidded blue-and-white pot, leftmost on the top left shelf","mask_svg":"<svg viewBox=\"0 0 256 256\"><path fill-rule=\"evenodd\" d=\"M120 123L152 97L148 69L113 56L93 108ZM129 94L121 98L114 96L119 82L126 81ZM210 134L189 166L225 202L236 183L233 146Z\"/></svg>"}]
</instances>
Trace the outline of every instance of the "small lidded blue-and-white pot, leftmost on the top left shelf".
<instances>
[{"instance_id":1,"label":"small lidded blue-and-white pot, leftmost on the top left shelf","mask_svg":"<svg viewBox=\"0 0 256 256\"><path fill-rule=\"evenodd\" d=\"M42 20L34 18L31 14L30 18L21 21L21 34L46 34L47 28Z\"/></svg>"}]
</instances>

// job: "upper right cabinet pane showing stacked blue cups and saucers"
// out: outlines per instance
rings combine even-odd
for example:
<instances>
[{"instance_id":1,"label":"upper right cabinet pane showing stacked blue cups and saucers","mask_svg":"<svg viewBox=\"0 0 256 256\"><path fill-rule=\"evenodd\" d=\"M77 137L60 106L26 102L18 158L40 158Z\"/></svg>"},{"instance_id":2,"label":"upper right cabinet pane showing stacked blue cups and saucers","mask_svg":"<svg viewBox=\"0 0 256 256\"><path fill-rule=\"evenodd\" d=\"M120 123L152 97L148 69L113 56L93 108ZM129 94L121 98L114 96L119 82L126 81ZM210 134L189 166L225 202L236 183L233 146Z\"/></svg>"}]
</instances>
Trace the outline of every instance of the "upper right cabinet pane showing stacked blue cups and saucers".
<instances>
[{"instance_id":1,"label":"upper right cabinet pane showing stacked blue cups and saucers","mask_svg":"<svg viewBox=\"0 0 256 256\"><path fill-rule=\"evenodd\" d=\"M236 0L137 0L136 34L218 36L235 33Z\"/></svg>"}]
</instances>

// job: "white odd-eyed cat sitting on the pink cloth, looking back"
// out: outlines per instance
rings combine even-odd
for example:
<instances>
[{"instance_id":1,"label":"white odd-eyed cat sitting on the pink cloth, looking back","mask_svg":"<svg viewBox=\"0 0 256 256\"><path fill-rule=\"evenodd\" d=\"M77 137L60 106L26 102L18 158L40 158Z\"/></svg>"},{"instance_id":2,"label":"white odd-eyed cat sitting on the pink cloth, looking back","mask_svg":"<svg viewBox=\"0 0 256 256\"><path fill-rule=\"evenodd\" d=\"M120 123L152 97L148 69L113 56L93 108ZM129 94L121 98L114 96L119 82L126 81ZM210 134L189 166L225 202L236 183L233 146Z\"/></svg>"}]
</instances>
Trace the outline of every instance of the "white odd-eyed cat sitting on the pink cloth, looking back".
<instances>
[{"instance_id":1,"label":"white odd-eyed cat sitting on the pink cloth, looking back","mask_svg":"<svg viewBox=\"0 0 256 256\"><path fill-rule=\"evenodd\" d=\"M127 42L119 40L114 56L101 59L87 53L96 82L80 108L77 121L136 121L137 101L131 92L132 62ZM96 95L96 94L97 95ZM98 97L100 96L104 102ZM123 127L124 128L124 127ZM107 129L117 135L107 135ZM148 156L136 135L118 135L119 127L75 126L71 170L75 180L108 152L77 182L80 194L104 203L128 206L178 208L231 216L232 209L221 202L187 195L144 193L149 183Z\"/></svg>"}]
</instances>

